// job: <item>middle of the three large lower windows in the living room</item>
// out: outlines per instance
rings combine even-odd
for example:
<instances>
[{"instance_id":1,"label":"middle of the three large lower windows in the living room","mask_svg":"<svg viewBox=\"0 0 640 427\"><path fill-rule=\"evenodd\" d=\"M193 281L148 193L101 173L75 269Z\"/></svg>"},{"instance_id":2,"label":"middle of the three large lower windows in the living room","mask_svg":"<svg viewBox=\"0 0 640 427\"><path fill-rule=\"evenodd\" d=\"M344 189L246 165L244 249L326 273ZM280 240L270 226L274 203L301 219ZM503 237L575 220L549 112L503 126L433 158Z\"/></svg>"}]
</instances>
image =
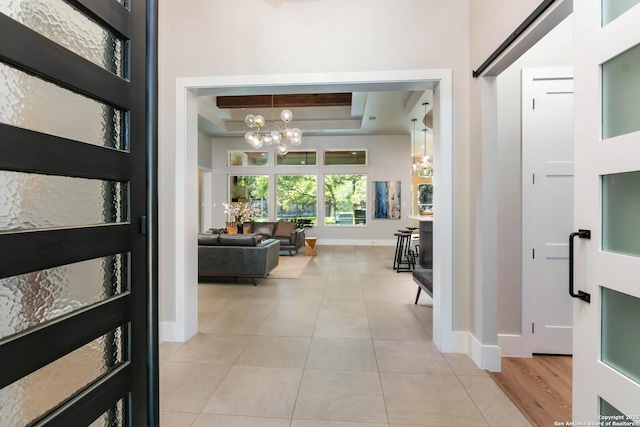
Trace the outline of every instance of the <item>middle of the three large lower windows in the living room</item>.
<instances>
[{"instance_id":1,"label":"middle of the three large lower windows in the living room","mask_svg":"<svg viewBox=\"0 0 640 427\"><path fill-rule=\"evenodd\" d=\"M276 176L276 218L318 223L318 178L315 175Z\"/></svg>"}]
</instances>

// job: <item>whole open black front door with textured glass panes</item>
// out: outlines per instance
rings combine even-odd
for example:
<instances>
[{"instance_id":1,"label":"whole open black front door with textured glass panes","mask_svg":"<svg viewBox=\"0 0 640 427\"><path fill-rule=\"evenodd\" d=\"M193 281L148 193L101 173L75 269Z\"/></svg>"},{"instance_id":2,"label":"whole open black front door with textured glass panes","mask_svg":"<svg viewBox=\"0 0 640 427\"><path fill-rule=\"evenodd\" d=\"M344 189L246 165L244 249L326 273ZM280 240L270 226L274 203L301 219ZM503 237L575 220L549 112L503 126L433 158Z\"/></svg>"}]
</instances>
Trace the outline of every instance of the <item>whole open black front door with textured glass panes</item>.
<instances>
[{"instance_id":1,"label":"whole open black front door with textured glass panes","mask_svg":"<svg viewBox=\"0 0 640 427\"><path fill-rule=\"evenodd\" d=\"M158 425L156 15L0 5L0 425Z\"/></svg>"}]
</instances>

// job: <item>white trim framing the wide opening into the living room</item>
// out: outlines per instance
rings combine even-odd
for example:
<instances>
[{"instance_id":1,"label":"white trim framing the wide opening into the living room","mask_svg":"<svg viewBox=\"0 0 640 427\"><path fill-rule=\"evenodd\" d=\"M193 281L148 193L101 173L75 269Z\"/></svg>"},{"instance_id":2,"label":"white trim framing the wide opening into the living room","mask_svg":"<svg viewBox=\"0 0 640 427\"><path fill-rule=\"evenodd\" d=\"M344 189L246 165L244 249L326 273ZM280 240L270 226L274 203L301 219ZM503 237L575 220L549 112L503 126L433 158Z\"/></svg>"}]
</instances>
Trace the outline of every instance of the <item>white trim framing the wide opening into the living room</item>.
<instances>
[{"instance_id":1,"label":"white trim framing the wide opening into the living room","mask_svg":"<svg viewBox=\"0 0 640 427\"><path fill-rule=\"evenodd\" d=\"M265 75L178 79L176 85L175 327L176 341L197 332L197 97L258 93L323 93L376 90L434 91L434 343L444 352L466 352L453 332L453 103L451 70L412 70L318 75Z\"/></svg>"}]
</instances>

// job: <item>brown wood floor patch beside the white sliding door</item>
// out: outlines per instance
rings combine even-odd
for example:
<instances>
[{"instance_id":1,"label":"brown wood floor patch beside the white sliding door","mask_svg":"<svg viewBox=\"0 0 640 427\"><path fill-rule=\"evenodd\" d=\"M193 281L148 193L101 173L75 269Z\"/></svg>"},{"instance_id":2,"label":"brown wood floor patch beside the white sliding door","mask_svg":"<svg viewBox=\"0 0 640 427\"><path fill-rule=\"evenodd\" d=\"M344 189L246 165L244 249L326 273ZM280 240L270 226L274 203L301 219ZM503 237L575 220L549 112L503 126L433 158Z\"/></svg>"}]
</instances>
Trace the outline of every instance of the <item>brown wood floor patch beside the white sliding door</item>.
<instances>
[{"instance_id":1,"label":"brown wood floor patch beside the white sliding door","mask_svg":"<svg viewBox=\"0 0 640 427\"><path fill-rule=\"evenodd\" d=\"M536 427L571 420L571 356L503 357L502 372L490 372Z\"/></svg>"}]
</instances>

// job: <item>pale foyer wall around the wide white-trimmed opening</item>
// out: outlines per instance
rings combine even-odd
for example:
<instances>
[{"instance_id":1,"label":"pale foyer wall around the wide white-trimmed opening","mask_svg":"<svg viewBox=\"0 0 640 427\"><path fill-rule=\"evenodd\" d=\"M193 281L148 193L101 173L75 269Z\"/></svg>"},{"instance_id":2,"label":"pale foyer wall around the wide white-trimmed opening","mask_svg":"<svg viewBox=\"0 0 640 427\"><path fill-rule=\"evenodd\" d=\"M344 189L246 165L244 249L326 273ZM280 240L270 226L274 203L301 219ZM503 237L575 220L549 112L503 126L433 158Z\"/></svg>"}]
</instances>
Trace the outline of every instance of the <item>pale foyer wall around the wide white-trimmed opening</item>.
<instances>
[{"instance_id":1,"label":"pale foyer wall around the wide white-trimmed opening","mask_svg":"<svg viewBox=\"0 0 640 427\"><path fill-rule=\"evenodd\" d=\"M159 8L162 320L172 321L176 313L176 78L450 68L455 153L453 326L468 330L468 0L371 0L366 6L358 1L322 0L284 2L277 7L263 0L191 0L188 7L167 0Z\"/></svg>"}]
</instances>

